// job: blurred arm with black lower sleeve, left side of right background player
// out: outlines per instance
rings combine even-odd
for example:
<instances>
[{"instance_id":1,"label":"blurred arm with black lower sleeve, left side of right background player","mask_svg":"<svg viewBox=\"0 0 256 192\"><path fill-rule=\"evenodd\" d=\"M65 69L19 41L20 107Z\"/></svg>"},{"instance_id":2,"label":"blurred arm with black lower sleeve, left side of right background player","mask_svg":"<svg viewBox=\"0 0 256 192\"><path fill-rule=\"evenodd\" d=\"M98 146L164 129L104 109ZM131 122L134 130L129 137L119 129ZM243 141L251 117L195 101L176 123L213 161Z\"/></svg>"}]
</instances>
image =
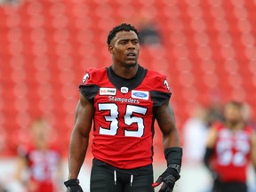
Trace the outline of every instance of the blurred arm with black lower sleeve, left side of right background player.
<instances>
[{"instance_id":1,"label":"blurred arm with black lower sleeve, left side of right background player","mask_svg":"<svg viewBox=\"0 0 256 192\"><path fill-rule=\"evenodd\" d=\"M213 148L215 146L216 139L217 139L217 130L212 127L210 128L206 138L206 146L205 146L205 153L204 153L204 164L211 171L212 169L210 165L210 159L213 155Z\"/></svg>"}]
</instances>

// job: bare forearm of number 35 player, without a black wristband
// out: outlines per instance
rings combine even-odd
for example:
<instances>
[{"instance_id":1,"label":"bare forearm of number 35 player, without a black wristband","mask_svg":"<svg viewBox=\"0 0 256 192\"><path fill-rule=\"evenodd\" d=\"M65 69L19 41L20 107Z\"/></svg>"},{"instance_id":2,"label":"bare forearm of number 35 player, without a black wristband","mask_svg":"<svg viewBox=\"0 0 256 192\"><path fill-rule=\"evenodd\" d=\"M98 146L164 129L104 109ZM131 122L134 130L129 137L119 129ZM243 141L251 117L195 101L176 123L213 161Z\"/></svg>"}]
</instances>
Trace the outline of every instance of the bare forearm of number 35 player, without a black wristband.
<instances>
[{"instance_id":1,"label":"bare forearm of number 35 player, without a black wristband","mask_svg":"<svg viewBox=\"0 0 256 192\"><path fill-rule=\"evenodd\" d=\"M83 136L72 136L69 144L68 155L68 180L76 179L84 163L89 138Z\"/></svg>"}]
</instances>

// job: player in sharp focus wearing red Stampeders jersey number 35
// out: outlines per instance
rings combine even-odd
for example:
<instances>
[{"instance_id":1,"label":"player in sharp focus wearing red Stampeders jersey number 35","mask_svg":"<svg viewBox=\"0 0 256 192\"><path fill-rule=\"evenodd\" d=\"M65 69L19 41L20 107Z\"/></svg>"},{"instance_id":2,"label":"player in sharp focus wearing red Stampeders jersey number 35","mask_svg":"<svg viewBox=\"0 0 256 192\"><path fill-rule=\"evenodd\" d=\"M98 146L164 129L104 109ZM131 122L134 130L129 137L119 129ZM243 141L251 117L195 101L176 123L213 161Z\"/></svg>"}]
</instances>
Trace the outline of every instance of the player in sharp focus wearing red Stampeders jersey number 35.
<instances>
[{"instance_id":1,"label":"player in sharp focus wearing red Stampeders jersey number 35","mask_svg":"<svg viewBox=\"0 0 256 192\"><path fill-rule=\"evenodd\" d=\"M138 64L138 31L130 24L113 28L107 42L112 65L88 68L79 86L67 191L83 191L77 177L92 127L91 192L150 192L162 182L160 191L172 192L180 179L182 148L166 76ZM167 169L153 183L155 119L163 133Z\"/></svg>"}]
</instances>

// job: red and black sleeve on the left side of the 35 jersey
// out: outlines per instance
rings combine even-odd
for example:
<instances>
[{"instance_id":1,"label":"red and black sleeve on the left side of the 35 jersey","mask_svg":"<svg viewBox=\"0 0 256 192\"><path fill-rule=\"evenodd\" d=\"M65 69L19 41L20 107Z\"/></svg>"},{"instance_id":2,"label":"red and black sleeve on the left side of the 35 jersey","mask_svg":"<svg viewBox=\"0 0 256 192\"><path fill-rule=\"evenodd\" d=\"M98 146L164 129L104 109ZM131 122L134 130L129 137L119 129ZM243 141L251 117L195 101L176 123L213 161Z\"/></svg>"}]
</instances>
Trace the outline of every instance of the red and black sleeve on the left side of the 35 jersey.
<instances>
[{"instance_id":1,"label":"red and black sleeve on the left side of the 35 jersey","mask_svg":"<svg viewBox=\"0 0 256 192\"><path fill-rule=\"evenodd\" d=\"M79 90L81 94L84 95L84 98L86 100L89 100L93 104L95 95L99 92L100 86L98 86L93 81L93 76L96 76L96 72L94 68L89 68L85 74L84 78L82 80L82 83L79 85Z\"/></svg>"}]
</instances>

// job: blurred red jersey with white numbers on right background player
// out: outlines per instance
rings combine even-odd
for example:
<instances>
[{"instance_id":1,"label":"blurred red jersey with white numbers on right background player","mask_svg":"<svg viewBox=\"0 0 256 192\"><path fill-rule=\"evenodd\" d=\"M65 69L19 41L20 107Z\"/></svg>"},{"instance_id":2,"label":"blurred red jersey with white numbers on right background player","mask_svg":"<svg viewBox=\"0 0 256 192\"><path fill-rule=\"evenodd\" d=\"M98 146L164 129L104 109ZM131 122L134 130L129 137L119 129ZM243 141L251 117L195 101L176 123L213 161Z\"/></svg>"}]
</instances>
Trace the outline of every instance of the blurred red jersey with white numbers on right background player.
<instances>
[{"instance_id":1,"label":"blurred red jersey with white numbers on right background player","mask_svg":"<svg viewBox=\"0 0 256 192\"><path fill-rule=\"evenodd\" d=\"M218 132L213 157L213 169L223 181L246 182L246 170L249 164L252 128L232 132L223 124L215 126Z\"/></svg>"}]
</instances>

